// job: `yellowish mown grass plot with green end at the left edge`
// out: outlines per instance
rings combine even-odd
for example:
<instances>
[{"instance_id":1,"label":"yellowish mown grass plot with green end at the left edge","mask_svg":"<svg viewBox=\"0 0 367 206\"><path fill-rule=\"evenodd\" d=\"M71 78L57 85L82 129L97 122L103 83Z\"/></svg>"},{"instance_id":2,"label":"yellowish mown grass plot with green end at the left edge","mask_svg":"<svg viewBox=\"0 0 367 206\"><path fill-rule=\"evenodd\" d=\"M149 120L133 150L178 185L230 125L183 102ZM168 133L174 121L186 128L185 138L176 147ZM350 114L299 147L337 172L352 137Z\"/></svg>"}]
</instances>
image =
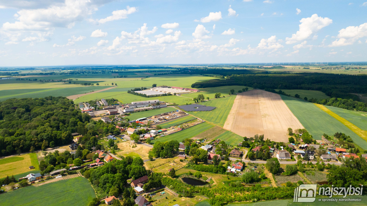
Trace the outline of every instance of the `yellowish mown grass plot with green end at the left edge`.
<instances>
[{"instance_id":1,"label":"yellowish mown grass plot with green end at the left edge","mask_svg":"<svg viewBox=\"0 0 367 206\"><path fill-rule=\"evenodd\" d=\"M0 160L0 165L0 178L21 173L29 174L39 169L36 153L4 158ZM29 169L29 166L34 166L34 169Z\"/></svg>"}]
</instances>

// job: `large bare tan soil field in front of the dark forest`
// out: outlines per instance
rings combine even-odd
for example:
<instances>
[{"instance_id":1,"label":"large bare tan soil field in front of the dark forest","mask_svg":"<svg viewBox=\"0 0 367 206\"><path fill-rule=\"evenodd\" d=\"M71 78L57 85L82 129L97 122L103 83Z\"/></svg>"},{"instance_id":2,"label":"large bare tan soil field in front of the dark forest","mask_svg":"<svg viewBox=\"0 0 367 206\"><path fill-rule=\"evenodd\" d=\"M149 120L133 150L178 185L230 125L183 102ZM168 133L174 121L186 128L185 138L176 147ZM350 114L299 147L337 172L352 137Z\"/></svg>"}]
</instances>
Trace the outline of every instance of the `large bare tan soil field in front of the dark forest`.
<instances>
[{"instance_id":1,"label":"large bare tan soil field in front of the dark forest","mask_svg":"<svg viewBox=\"0 0 367 206\"><path fill-rule=\"evenodd\" d=\"M303 129L280 95L254 89L237 94L224 129L240 136L288 142L287 129Z\"/></svg>"}]
</instances>

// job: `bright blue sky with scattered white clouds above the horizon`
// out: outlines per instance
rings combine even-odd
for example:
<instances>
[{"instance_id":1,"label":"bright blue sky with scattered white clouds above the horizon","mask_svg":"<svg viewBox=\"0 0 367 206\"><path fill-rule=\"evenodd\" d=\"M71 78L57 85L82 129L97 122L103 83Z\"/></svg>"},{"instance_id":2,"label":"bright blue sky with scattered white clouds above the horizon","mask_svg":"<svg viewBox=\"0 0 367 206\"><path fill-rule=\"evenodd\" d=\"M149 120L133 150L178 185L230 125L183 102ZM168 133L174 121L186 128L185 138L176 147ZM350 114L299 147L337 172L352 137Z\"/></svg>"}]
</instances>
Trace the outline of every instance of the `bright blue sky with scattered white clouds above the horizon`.
<instances>
[{"instance_id":1,"label":"bright blue sky with scattered white clouds above the horizon","mask_svg":"<svg viewBox=\"0 0 367 206\"><path fill-rule=\"evenodd\" d=\"M344 0L0 0L0 66L366 61L366 11Z\"/></svg>"}]
</instances>

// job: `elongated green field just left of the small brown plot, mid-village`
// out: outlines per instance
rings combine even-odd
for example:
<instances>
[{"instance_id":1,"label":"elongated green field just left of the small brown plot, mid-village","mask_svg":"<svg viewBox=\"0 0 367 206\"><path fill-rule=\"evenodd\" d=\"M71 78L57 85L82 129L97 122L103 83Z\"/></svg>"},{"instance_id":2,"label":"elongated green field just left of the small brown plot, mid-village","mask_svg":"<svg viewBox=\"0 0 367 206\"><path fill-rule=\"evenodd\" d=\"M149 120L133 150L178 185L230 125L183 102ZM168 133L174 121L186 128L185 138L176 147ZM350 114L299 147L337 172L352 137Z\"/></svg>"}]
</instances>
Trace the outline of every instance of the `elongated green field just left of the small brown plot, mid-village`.
<instances>
[{"instance_id":1,"label":"elongated green field just left of the small brown plot, mid-village","mask_svg":"<svg viewBox=\"0 0 367 206\"><path fill-rule=\"evenodd\" d=\"M167 136L152 140L152 143L154 144L156 141L166 142L166 141L171 141L171 140L177 140L181 142L182 140L186 138L190 139L192 137L195 137L196 135L199 135L201 132L205 132L206 130L212 128L213 126L214 125L209 124L208 122L204 122L204 123L192 126L188 129L184 129L180 132L176 132L172 135L167 135Z\"/></svg>"}]
</instances>

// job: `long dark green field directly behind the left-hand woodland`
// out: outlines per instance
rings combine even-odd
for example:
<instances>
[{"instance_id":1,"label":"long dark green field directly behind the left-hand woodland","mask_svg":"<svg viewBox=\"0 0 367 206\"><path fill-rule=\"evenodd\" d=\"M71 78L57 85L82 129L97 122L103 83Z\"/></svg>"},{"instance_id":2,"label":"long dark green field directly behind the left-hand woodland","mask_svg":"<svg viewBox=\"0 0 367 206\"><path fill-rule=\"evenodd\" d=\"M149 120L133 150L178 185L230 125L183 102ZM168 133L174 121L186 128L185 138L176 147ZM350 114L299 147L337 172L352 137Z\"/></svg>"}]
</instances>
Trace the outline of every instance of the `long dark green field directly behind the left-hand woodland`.
<instances>
[{"instance_id":1,"label":"long dark green field directly behind the left-hand woodland","mask_svg":"<svg viewBox=\"0 0 367 206\"><path fill-rule=\"evenodd\" d=\"M18 91L20 89L11 89L11 95L3 95L3 91L1 92L0 101L4 101L10 98L43 98L46 96L70 96L70 95L78 95L82 93L88 93L91 91L97 91L100 89L105 89L109 87L70 87L70 88L51 88L51 89L30 89L36 90L32 92L20 93L22 91ZM37 91L38 90L38 91Z\"/></svg>"}]
</instances>

